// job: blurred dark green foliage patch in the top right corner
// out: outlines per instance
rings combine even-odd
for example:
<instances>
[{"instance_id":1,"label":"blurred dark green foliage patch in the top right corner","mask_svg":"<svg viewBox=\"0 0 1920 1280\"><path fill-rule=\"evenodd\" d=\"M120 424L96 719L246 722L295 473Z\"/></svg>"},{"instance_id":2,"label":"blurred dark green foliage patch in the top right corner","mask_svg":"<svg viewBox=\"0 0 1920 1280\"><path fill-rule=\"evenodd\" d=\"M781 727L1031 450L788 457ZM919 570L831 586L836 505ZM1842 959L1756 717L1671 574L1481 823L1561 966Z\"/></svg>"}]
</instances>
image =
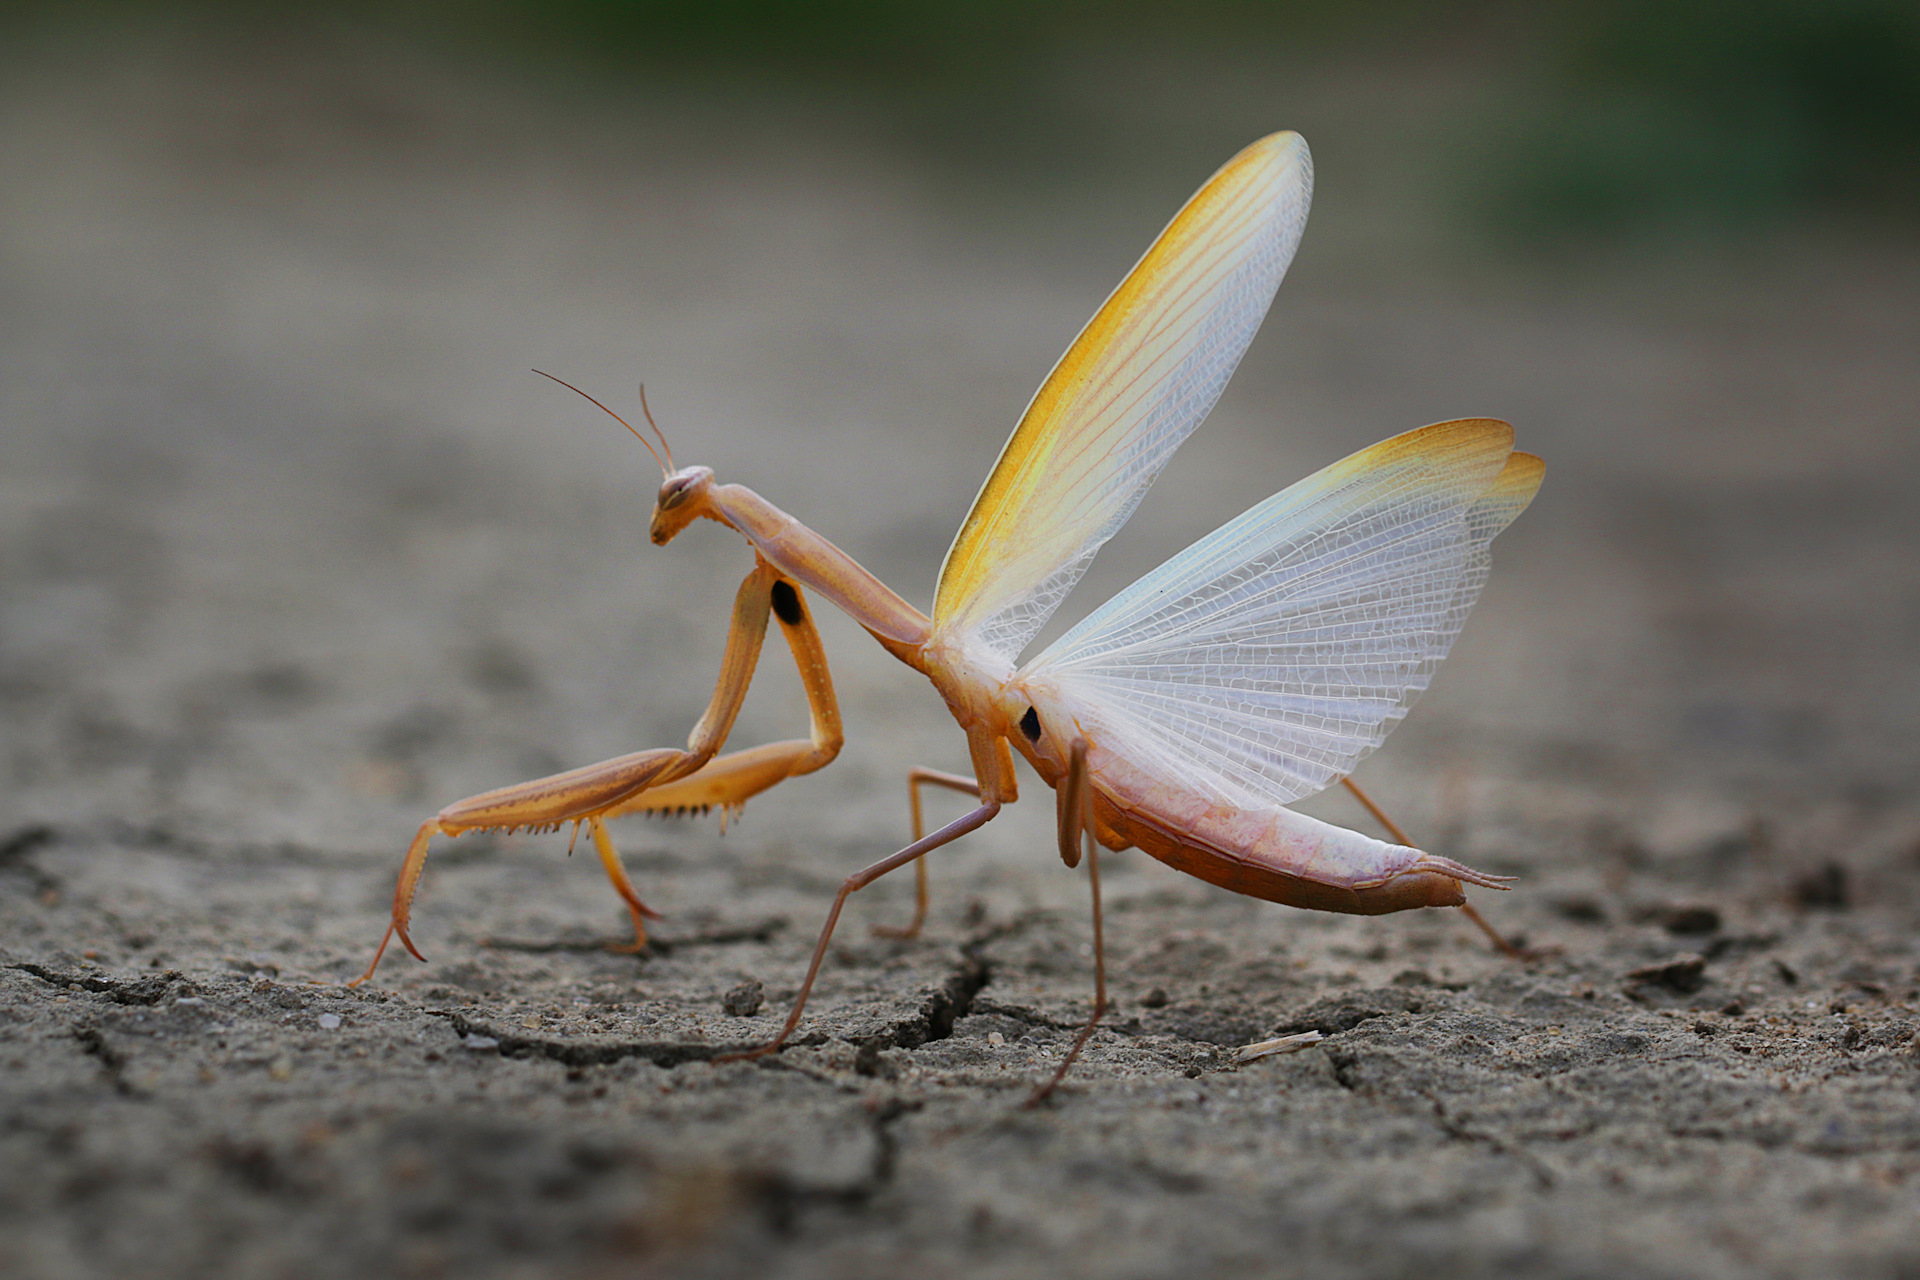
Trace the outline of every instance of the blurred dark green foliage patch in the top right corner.
<instances>
[{"instance_id":1,"label":"blurred dark green foliage patch in the top right corner","mask_svg":"<svg viewBox=\"0 0 1920 1280\"><path fill-rule=\"evenodd\" d=\"M1501 221L1540 238L1920 213L1920 6L1626 0L1511 92Z\"/></svg>"}]
</instances>

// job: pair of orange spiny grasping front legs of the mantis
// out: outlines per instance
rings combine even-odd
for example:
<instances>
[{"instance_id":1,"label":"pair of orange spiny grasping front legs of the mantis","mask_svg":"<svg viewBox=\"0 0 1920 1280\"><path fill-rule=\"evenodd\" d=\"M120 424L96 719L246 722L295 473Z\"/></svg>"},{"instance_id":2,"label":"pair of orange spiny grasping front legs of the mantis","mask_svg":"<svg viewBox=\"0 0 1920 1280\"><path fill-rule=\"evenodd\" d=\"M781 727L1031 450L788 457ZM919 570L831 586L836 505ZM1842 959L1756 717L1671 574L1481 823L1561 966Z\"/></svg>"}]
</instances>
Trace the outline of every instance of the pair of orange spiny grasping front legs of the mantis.
<instances>
[{"instance_id":1,"label":"pair of orange spiny grasping front legs of the mantis","mask_svg":"<svg viewBox=\"0 0 1920 1280\"><path fill-rule=\"evenodd\" d=\"M780 618L781 631L785 631L787 645L801 668L812 735L806 741L772 743L714 758L739 718L747 685L753 683L760 647L766 641L768 612ZM455 837L467 831L551 831L568 821L588 823L601 864L634 917L634 946L639 948L645 946L647 938L643 917L653 915L653 910L639 900L628 883L603 819L616 814L685 810L707 804L739 808L747 798L774 783L822 768L839 754L839 706L833 700L833 681L828 676L820 633L806 612L806 603L801 599L799 587L787 581L780 570L766 560L756 560L733 597L733 624L728 629L714 695L687 735L685 750L672 747L637 750L566 773L468 796L440 810L438 816L420 825L413 844L407 846L407 860L401 864L399 883L394 887L392 923L380 938L380 948L374 952L372 963L367 965L367 973L351 984L359 986L372 977L388 942L396 936L415 960L424 960L413 938L407 936L407 919L420 873L426 869L426 846L436 831Z\"/></svg>"}]
</instances>

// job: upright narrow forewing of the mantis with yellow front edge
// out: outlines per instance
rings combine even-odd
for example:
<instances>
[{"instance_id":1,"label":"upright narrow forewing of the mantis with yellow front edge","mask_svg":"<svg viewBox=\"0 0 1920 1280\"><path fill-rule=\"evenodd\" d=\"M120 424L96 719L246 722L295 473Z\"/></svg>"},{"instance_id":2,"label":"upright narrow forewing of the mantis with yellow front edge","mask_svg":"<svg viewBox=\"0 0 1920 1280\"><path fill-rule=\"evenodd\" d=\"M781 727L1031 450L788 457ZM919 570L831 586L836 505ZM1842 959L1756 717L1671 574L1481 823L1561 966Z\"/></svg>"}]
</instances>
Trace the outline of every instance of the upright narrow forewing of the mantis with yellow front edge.
<instances>
[{"instance_id":1,"label":"upright narrow forewing of the mantis with yellow front edge","mask_svg":"<svg viewBox=\"0 0 1920 1280\"><path fill-rule=\"evenodd\" d=\"M1306 226L1298 134L1235 155L1041 384L941 566L933 622L1020 656L1219 399Z\"/></svg>"}]
</instances>

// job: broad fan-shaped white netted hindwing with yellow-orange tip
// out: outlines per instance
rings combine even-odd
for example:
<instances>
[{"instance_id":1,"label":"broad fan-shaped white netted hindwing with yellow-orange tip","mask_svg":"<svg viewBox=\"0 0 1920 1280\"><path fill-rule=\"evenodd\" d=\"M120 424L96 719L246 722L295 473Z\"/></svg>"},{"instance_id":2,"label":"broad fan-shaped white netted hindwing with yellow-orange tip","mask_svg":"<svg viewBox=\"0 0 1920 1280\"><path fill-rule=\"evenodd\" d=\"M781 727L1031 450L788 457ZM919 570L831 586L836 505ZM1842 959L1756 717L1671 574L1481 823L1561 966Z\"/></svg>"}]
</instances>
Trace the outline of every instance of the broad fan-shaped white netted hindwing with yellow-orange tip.
<instances>
[{"instance_id":1,"label":"broad fan-shaped white netted hindwing with yellow-orange tip","mask_svg":"<svg viewBox=\"0 0 1920 1280\"><path fill-rule=\"evenodd\" d=\"M1236 808L1344 777L1407 714L1544 464L1490 418L1308 476L1133 583L1020 672L1089 733Z\"/></svg>"}]
</instances>

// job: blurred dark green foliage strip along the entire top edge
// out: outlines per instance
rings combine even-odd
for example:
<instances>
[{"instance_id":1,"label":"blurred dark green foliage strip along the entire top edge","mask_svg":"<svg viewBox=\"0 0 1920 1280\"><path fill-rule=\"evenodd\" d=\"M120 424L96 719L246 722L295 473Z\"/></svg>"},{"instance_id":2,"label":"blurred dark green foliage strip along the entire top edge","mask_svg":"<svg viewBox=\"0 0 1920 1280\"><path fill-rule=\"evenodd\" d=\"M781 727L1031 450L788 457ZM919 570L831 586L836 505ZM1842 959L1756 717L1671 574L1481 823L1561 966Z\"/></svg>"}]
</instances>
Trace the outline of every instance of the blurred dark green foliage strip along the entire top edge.
<instances>
[{"instance_id":1,"label":"blurred dark green foliage strip along the entire top edge","mask_svg":"<svg viewBox=\"0 0 1920 1280\"><path fill-rule=\"evenodd\" d=\"M851 100L937 117L947 142L995 146L1010 121L1039 136L1050 109L1089 109L1083 84L1071 107L1058 88L1077 59L1169 67L1112 77L1135 127L1154 94L1171 111L1204 88L1210 61L1365 71L1425 59L1484 79L1484 121L1448 132L1453 167L1476 178L1471 203L1501 240L1836 211L1920 228L1916 0L13 0L0 40L8 27L156 19L209 33L376 27L614 92Z\"/></svg>"}]
</instances>

